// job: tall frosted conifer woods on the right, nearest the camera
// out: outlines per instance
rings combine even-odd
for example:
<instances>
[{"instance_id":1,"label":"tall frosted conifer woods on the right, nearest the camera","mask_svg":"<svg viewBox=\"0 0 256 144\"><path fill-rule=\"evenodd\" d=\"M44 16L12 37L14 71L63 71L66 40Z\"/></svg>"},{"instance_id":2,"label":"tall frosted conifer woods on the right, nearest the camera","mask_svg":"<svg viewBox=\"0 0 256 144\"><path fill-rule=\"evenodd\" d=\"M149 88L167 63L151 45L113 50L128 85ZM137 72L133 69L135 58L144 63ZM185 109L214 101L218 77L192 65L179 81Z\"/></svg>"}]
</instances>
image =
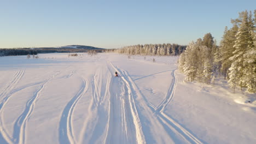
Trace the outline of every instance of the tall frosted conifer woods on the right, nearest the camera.
<instances>
[{"instance_id":1,"label":"tall frosted conifer woods on the right, nearest the camera","mask_svg":"<svg viewBox=\"0 0 256 144\"><path fill-rule=\"evenodd\" d=\"M210 83L217 75L224 75L235 92L236 87L256 89L256 10L242 11L231 20L232 27L225 28L220 46L216 46L208 33L188 45L179 57L179 70L188 80Z\"/></svg>"}]
</instances>

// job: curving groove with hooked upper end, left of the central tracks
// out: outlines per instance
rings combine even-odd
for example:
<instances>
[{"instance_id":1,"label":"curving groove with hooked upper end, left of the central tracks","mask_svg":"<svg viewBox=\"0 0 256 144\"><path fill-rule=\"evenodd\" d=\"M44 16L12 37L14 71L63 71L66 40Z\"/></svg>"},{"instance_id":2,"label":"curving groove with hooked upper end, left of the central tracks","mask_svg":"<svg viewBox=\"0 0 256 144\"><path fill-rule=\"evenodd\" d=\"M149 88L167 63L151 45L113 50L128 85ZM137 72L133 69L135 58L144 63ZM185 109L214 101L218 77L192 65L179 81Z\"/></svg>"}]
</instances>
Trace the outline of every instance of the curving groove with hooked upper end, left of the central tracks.
<instances>
[{"instance_id":1,"label":"curving groove with hooked upper end, left of the central tracks","mask_svg":"<svg viewBox=\"0 0 256 144\"><path fill-rule=\"evenodd\" d=\"M83 86L79 89L78 93L68 101L65 106L59 124L59 142L60 143L76 143L73 133L72 125L72 114L74 111L75 105L78 103L78 100L86 93L88 90L88 80L85 80L82 76L79 77L83 80Z\"/></svg>"}]
</instances>

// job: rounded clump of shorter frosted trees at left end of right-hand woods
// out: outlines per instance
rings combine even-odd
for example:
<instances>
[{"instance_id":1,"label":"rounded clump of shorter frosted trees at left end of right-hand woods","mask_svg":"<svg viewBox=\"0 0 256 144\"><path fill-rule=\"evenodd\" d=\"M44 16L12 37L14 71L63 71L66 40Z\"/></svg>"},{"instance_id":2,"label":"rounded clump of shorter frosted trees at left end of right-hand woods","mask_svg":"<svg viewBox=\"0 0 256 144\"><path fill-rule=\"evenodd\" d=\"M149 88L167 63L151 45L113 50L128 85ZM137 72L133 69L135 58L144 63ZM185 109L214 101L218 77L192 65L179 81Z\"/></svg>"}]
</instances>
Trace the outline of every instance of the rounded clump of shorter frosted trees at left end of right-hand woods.
<instances>
[{"instance_id":1,"label":"rounded clump of shorter frosted trees at left end of right-hand woods","mask_svg":"<svg viewBox=\"0 0 256 144\"><path fill-rule=\"evenodd\" d=\"M212 45L213 46L213 45ZM192 42L179 58L179 70L188 76L188 80L197 80L210 84L213 71L211 49L203 40Z\"/></svg>"}]
</instances>

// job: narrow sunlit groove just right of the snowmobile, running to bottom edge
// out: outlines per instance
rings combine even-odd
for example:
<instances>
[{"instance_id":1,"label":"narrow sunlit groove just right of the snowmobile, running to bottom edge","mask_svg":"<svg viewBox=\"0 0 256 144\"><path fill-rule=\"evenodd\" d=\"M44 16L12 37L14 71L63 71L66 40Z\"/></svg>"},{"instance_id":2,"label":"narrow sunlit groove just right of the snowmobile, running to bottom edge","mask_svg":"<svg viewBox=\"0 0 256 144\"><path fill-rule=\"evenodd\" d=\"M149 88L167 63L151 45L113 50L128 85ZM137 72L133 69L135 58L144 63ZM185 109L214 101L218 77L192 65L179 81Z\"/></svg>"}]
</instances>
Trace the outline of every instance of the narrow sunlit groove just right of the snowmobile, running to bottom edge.
<instances>
[{"instance_id":1,"label":"narrow sunlit groove just right of the snowmobile, running to bottom edge","mask_svg":"<svg viewBox=\"0 0 256 144\"><path fill-rule=\"evenodd\" d=\"M112 65L112 67L119 73L120 70L115 68L114 65L109 62L110 65ZM121 76L121 79L123 79L123 81L126 83L127 89L128 89L128 93L129 93L129 102L130 102L130 108L131 108L131 112L132 112L132 117L133 117L133 123L135 124L135 129L136 129L136 139L137 139L137 143L146 143L143 131L142 131L142 124L140 122L139 116L138 116L138 112L137 112L137 108L135 105L135 100L133 99L133 95L132 95L132 90L130 87L129 82L124 78L124 76Z\"/></svg>"}]
</instances>

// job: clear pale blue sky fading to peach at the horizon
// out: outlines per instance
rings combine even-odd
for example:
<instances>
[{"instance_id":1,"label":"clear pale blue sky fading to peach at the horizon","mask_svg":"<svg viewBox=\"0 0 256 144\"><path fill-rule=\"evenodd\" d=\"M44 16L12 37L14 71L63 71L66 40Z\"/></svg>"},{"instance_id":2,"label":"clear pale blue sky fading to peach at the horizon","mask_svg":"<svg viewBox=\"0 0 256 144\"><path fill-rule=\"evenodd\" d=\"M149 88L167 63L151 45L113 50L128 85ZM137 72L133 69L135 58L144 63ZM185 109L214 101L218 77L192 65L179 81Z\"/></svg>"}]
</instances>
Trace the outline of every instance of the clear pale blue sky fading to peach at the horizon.
<instances>
[{"instance_id":1,"label":"clear pale blue sky fading to peach at the horizon","mask_svg":"<svg viewBox=\"0 0 256 144\"><path fill-rule=\"evenodd\" d=\"M0 0L0 48L134 44L187 45L210 32L217 42L255 0Z\"/></svg>"}]
</instances>

